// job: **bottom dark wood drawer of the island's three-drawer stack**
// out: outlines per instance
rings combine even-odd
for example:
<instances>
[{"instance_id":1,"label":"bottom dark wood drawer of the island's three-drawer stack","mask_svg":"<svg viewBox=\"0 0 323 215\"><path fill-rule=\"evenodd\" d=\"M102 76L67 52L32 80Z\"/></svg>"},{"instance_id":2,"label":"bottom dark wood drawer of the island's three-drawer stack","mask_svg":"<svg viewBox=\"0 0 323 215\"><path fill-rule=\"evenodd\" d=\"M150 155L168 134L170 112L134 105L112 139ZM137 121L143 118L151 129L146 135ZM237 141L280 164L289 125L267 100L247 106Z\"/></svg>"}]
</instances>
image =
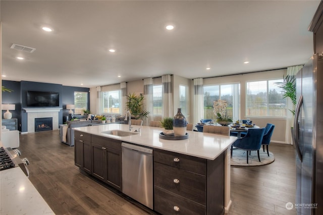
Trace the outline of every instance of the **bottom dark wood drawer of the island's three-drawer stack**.
<instances>
[{"instance_id":1,"label":"bottom dark wood drawer of the island's three-drawer stack","mask_svg":"<svg viewBox=\"0 0 323 215\"><path fill-rule=\"evenodd\" d=\"M175 210L175 206L179 211ZM182 196L154 187L154 210L161 214L205 214L206 207Z\"/></svg>"}]
</instances>

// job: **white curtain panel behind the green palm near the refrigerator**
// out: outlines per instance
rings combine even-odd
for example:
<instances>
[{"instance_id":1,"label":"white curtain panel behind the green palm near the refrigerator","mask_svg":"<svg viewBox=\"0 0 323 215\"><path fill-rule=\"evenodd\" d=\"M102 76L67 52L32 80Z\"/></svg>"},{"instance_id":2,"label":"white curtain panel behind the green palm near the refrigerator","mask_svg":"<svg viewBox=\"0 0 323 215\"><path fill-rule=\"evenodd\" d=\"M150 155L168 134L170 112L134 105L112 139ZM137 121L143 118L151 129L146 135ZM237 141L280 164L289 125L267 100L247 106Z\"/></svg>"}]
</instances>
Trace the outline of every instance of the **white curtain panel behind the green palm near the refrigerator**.
<instances>
[{"instance_id":1,"label":"white curtain panel behind the green palm near the refrigerator","mask_svg":"<svg viewBox=\"0 0 323 215\"><path fill-rule=\"evenodd\" d=\"M298 71L302 68L302 65L290 66L287 67L287 75L296 76ZM294 116L289 110L293 110L293 103L290 99L287 99L287 114L286 114L286 131L285 131L285 141L288 144L293 144L291 127L294 126Z\"/></svg>"}]
</instances>

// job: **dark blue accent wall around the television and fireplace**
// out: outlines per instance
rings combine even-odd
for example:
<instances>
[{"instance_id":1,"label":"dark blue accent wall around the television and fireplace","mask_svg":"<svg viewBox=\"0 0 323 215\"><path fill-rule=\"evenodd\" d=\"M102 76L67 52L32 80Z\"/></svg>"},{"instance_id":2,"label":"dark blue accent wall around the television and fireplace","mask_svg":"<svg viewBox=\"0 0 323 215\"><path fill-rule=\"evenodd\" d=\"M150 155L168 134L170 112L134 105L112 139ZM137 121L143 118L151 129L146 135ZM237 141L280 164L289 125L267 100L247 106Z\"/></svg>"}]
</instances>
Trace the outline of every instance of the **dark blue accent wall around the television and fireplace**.
<instances>
[{"instance_id":1,"label":"dark blue accent wall around the television and fireplace","mask_svg":"<svg viewBox=\"0 0 323 215\"><path fill-rule=\"evenodd\" d=\"M59 124L63 124L63 116L68 115L66 110L66 104L74 104L74 92L87 92L88 93L88 107L90 107L90 89L81 87L69 87L59 84L49 84L40 82L15 82L2 80L2 85L14 90L14 92L2 92L3 104L15 104L16 110L12 112L12 117L18 119L18 129L21 132L27 132L27 114L23 108L26 108L27 91L43 91L43 92L57 92L60 93L60 108L63 108L59 112ZM30 108L30 107L29 107ZM2 111L2 115L4 110Z\"/></svg>"}]
</instances>

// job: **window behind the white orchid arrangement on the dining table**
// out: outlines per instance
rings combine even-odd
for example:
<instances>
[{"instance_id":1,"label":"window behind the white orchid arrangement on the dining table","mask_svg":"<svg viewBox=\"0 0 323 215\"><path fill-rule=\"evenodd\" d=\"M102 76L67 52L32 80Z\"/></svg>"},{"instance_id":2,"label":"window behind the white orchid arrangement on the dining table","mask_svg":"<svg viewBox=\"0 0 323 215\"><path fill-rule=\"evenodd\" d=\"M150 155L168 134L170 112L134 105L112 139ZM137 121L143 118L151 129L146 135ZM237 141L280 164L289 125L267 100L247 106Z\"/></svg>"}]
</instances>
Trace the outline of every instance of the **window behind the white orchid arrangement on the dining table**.
<instances>
[{"instance_id":1,"label":"window behind the white orchid arrangement on the dining table","mask_svg":"<svg viewBox=\"0 0 323 215\"><path fill-rule=\"evenodd\" d=\"M232 120L240 117L240 84L205 85L204 91L204 119L216 119L213 112L213 102L221 99L226 100L227 116Z\"/></svg>"}]
</instances>

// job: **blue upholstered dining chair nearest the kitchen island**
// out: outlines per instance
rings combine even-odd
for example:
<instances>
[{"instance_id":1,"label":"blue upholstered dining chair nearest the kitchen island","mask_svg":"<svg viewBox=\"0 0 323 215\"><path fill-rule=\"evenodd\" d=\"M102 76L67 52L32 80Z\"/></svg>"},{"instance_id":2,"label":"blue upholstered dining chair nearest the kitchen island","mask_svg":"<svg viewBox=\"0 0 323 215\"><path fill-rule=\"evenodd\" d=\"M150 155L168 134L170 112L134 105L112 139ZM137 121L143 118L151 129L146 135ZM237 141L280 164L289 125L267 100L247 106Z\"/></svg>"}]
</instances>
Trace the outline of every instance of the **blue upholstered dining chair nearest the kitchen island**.
<instances>
[{"instance_id":1,"label":"blue upholstered dining chair nearest the kitchen island","mask_svg":"<svg viewBox=\"0 0 323 215\"><path fill-rule=\"evenodd\" d=\"M261 142L262 142L264 130L265 130L265 128L248 129L248 132L244 137L237 139L231 145L231 157L232 157L233 147L236 147L238 149L242 149L242 150L247 151L247 153L246 153L247 154L247 164L248 164L248 154L251 151L257 151L258 160L260 162L259 150L261 148Z\"/></svg>"}]
</instances>

